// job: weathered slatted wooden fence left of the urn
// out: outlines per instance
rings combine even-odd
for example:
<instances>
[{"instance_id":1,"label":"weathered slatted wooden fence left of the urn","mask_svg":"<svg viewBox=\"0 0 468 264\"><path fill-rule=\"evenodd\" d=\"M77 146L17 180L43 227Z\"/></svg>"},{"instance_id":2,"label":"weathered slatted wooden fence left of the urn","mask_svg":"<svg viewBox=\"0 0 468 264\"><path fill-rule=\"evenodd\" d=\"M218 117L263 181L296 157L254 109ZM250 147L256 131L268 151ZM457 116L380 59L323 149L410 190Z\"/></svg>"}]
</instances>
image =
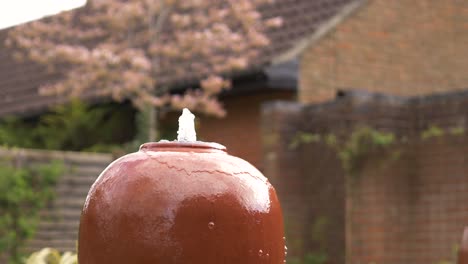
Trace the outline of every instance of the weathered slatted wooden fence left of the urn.
<instances>
[{"instance_id":1,"label":"weathered slatted wooden fence left of the urn","mask_svg":"<svg viewBox=\"0 0 468 264\"><path fill-rule=\"evenodd\" d=\"M64 163L65 171L59 178L56 197L42 210L37 232L26 250L54 247L61 251L75 251L84 200L93 182L112 162L112 155L0 148L0 158L13 158L26 166L54 160Z\"/></svg>"}]
</instances>

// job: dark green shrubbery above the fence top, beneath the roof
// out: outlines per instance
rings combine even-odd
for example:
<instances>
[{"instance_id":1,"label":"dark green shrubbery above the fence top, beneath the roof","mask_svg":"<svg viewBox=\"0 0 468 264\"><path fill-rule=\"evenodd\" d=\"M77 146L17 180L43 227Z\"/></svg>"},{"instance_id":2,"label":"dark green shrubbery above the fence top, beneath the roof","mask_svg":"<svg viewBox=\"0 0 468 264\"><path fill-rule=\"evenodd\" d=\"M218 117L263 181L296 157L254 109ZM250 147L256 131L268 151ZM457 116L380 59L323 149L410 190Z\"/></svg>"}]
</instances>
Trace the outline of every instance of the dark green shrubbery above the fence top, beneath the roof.
<instances>
[{"instance_id":1,"label":"dark green shrubbery above the fence top, beneath the roof","mask_svg":"<svg viewBox=\"0 0 468 264\"><path fill-rule=\"evenodd\" d=\"M0 145L74 151L110 152L133 134L125 122L128 107L91 107L78 100L55 107L39 120L5 118L0 122Z\"/></svg>"}]
</instances>

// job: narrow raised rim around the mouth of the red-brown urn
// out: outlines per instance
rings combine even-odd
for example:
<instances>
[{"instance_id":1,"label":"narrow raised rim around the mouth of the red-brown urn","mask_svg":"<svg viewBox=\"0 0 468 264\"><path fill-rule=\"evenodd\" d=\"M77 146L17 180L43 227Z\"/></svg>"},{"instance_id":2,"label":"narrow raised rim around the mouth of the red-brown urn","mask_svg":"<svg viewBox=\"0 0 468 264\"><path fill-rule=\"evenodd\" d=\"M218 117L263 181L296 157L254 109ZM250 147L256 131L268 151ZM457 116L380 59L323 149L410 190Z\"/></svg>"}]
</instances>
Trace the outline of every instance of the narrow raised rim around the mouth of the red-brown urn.
<instances>
[{"instance_id":1,"label":"narrow raised rim around the mouth of the red-brown urn","mask_svg":"<svg viewBox=\"0 0 468 264\"><path fill-rule=\"evenodd\" d=\"M180 142L180 141L159 141L148 142L140 146L140 151L176 151L176 152L220 152L227 153L226 147L214 142Z\"/></svg>"}]
</instances>

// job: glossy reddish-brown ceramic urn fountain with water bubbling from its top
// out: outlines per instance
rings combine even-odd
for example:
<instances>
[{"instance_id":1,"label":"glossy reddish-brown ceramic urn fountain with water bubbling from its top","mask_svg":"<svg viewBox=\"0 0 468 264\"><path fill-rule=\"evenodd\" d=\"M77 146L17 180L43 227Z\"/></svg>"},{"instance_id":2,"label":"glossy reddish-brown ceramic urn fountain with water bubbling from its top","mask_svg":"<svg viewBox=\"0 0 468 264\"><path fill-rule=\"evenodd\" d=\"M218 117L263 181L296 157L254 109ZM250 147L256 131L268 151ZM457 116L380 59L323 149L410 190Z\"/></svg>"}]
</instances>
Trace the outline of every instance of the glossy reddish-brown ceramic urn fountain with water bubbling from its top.
<instances>
[{"instance_id":1,"label":"glossy reddish-brown ceramic urn fountain with water bubbling from its top","mask_svg":"<svg viewBox=\"0 0 468 264\"><path fill-rule=\"evenodd\" d=\"M178 141L143 144L97 178L80 221L80 264L284 263L273 186L224 146L193 141L186 111Z\"/></svg>"}]
</instances>

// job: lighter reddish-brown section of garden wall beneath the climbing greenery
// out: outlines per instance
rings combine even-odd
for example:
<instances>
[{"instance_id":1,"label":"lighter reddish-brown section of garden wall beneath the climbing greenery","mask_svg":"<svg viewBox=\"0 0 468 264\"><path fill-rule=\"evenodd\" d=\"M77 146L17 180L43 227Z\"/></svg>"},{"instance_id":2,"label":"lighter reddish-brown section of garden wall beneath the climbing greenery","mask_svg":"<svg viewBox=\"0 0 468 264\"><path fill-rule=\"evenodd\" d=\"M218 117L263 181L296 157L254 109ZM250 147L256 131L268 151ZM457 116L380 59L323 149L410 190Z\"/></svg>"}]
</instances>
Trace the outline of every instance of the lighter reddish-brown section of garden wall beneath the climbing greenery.
<instances>
[{"instance_id":1,"label":"lighter reddish-brown section of garden wall beneath the climbing greenery","mask_svg":"<svg viewBox=\"0 0 468 264\"><path fill-rule=\"evenodd\" d=\"M468 137L400 145L398 160L373 153L347 188L348 263L440 263L468 225ZM395 150L395 149L393 149Z\"/></svg>"}]
</instances>

